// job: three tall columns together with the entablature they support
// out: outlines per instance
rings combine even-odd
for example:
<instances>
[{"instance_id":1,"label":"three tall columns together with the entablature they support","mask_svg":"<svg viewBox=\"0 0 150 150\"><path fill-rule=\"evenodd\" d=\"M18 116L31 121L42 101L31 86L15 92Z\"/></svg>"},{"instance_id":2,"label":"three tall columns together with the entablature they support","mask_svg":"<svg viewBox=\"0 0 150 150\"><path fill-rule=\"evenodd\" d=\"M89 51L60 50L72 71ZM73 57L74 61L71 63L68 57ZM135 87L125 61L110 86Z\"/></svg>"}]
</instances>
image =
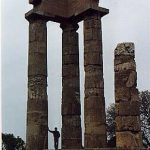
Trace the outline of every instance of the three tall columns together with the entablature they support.
<instances>
[{"instance_id":1,"label":"three tall columns together with the entablature they support","mask_svg":"<svg viewBox=\"0 0 150 150\"><path fill-rule=\"evenodd\" d=\"M62 29L62 149L81 149L78 22L84 21L85 149L106 147L101 17L98 0L29 0L27 150L48 149L47 26Z\"/></svg>"}]
</instances>

